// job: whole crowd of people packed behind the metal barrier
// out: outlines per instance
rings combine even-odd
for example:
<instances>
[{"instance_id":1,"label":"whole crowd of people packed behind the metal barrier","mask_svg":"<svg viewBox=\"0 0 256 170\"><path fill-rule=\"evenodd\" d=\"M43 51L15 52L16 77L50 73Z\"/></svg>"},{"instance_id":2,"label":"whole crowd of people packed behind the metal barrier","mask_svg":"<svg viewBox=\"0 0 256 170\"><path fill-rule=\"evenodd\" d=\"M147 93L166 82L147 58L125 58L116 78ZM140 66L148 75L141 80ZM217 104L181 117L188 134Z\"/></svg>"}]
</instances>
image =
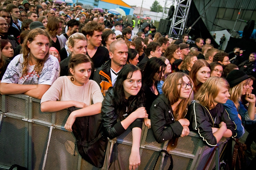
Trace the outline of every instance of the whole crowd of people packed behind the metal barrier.
<instances>
[{"instance_id":1,"label":"whole crowd of people packed behind the metal barrier","mask_svg":"<svg viewBox=\"0 0 256 170\"><path fill-rule=\"evenodd\" d=\"M80 155L102 167L107 137L132 129L129 169L140 165L142 124L158 143L189 131L214 147L222 137L255 141L256 53L228 53L211 39L157 32L79 5L6 0L0 8L0 92L41 99L42 112L69 109L65 129ZM246 60L248 57L248 60Z\"/></svg>"}]
</instances>

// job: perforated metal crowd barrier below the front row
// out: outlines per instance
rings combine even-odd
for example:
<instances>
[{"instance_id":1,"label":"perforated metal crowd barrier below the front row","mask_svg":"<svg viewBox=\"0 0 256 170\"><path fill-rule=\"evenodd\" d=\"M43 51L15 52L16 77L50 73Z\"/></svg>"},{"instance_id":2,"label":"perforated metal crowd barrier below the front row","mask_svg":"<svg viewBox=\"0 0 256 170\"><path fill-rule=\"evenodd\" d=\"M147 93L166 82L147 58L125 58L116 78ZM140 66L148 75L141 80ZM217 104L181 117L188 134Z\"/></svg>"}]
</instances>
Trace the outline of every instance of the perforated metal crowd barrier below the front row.
<instances>
[{"instance_id":1,"label":"perforated metal crowd barrier below the front row","mask_svg":"<svg viewBox=\"0 0 256 170\"><path fill-rule=\"evenodd\" d=\"M73 133L64 129L68 110L41 112L40 100L24 94L0 95L0 109L0 169L18 164L28 170L100 170L81 158ZM112 144L112 152L114 142L109 144ZM132 148L130 128L117 137L116 144L125 169L129 169ZM170 159L165 157L164 152L156 162L159 152L166 149L167 144L168 141L158 144L152 130L145 128L143 123L141 164L138 169L152 170L156 163L156 170L167 170ZM210 153L205 151L203 141L196 133L180 137L177 147L169 152L173 158L173 169L200 169L206 157L204 155ZM214 159L212 163L215 163Z\"/></svg>"}]
</instances>

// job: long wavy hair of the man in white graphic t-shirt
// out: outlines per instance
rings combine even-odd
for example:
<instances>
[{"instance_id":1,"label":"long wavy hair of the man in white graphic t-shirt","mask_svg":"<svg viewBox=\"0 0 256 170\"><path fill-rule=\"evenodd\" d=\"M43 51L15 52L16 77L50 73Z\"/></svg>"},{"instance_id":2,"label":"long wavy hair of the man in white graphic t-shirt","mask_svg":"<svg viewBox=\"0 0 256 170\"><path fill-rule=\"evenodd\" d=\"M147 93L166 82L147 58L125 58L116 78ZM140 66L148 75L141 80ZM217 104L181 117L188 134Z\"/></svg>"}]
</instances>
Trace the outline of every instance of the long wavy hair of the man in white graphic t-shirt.
<instances>
[{"instance_id":1,"label":"long wavy hair of the man in white graphic t-shirt","mask_svg":"<svg viewBox=\"0 0 256 170\"><path fill-rule=\"evenodd\" d=\"M28 36L25 38L24 40L24 45L21 49L21 54L23 54L23 59L24 62L22 63L22 76L26 76L28 74L28 64L29 64L29 60L30 60L30 55L28 55L30 53L30 48L28 48L28 41L29 43L31 43L32 41L34 41L35 37L37 35L44 35L48 38L49 42L51 40L50 35L43 29L41 28L36 28L31 30L28 33ZM44 67L44 61L45 59L49 56L49 50L47 51L47 54L45 55L43 60L40 60L37 62L37 64L34 67L34 70L37 72L38 75L41 74L43 67Z\"/></svg>"}]
</instances>

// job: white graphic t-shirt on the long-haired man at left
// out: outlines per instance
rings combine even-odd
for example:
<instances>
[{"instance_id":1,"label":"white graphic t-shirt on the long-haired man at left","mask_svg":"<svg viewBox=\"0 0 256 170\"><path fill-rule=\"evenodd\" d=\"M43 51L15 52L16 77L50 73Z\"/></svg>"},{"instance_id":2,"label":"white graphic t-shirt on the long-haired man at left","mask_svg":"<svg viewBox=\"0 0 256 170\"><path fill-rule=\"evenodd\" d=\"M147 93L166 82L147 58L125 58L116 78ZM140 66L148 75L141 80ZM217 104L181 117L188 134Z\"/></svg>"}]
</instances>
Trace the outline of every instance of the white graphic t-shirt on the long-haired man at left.
<instances>
[{"instance_id":1,"label":"white graphic t-shirt on the long-haired man at left","mask_svg":"<svg viewBox=\"0 0 256 170\"><path fill-rule=\"evenodd\" d=\"M56 57L49 55L44 62L40 74L34 70L35 65L29 66L28 74L22 75L23 54L17 55L8 65L1 83L16 83L22 85L52 85L60 77L60 64Z\"/></svg>"}]
</instances>

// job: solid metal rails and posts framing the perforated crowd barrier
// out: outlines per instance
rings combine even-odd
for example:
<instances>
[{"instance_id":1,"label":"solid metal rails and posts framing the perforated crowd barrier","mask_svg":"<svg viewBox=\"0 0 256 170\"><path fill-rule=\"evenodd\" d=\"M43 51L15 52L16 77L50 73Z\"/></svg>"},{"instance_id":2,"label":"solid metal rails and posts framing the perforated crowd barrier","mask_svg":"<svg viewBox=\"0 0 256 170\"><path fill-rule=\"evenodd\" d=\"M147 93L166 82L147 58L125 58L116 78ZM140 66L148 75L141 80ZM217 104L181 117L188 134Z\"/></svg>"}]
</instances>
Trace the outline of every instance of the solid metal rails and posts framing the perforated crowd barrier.
<instances>
[{"instance_id":1,"label":"solid metal rails and posts framing the perforated crowd barrier","mask_svg":"<svg viewBox=\"0 0 256 170\"><path fill-rule=\"evenodd\" d=\"M2 99L1 99L2 100L2 110L0 112L0 133L1 133L1 129L2 129L2 125L3 125L3 121L4 121L5 117L18 119L18 120L21 120L21 121L25 122L25 128L26 128L25 152L26 153L25 153L25 165L24 166L26 168L28 168L28 170L33 169L33 141L34 141L34 139L33 139L33 137L34 137L33 136L33 131L34 131L33 126L38 125L38 126L43 126L43 127L49 128L49 134L47 135L47 148L46 148L46 151L44 153L44 161L43 161L43 166L42 166L42 169L44 169L45 165L46 165L46 160L47 160L48 152L49 152L49 146L50 146L50 142L52 140L52 133L53 133L54 129L67 131L64 128L63 124L62 125L57 124L57 117L58 117L57 113L56 112L46 113L46 114L51 114L51 119L48 118L48 121L44 121L44 120L41 120L41 118L38 119L38 118L34 117L35 105L36 105L36 108L37 108L37 114L40 113L40 112L38 112L38 105L40 106L40 101L41 100L29 97L29 96L24 95L24 94L2 95L1 97L2 97ZM14 114L14 113L8 112L8 99L12 99L12 98L18 98L18 99L25 100L25 115L19 115L19 114ZM40 113L40 114L44 114L44 113ZM127 130L130 130L130 133L132 133L130 127ZM69 132L69 133L72 133L72 132ZM147 150L147 149L151 150L151 151L155 151L155 152L160 152L161 150L166 150L168 141L166 141L164 144L161 145L161 147L159 147L159 146L155 146L155 145L146 143L147 136L148 136L148 128L143 123L142 133L141 133L141 137L140 137L140 156L142 156L142 152L144 150ZM169 153L171 155L177 155L177 156L181 156L181 157L184 157L184 158L193 159L192 162L190 163L189 167L187 167L188 169L192 169L192 168L198 167L198 165L199 165L199 162L201 160L201 156L203 155L203 152L204 152L204 143L195 132L190 131L189 137L199 138L198 143L196 145L196 150L195 150L196 152L195 153L191 154L191 153L176 151L175 149L169 151ZM109 144L110 143L111 142L109 142ZM117 137L116 144L124 144L124 145L127 145L127 146L132 146L132 140L129 140L129 139L127 140L127 139L122 138L122 137ZM110 147L111 151L113 149L113 146L114 146L114 144L112 142L112 147ZM223 143L223 146L224 146L224 143ZM221 152L223 146L220 147L220 152ZM164 155L165 155L165 153L162 153L160 164L159 164L159 166L157 165L156 169L159 169L159 170L162 169L162 166L163 166L163 163L164 163ZM130 156L130 154L128 156ZM110 157L111 157L111 155L110 155ZM141 159L143 159L143 158L141 158ZM84 162L84 160L78 154L77 168L76 168L77 170L80 170L82 168L82 163L83 162ZM211 166L214 166L214 162L215 162L214 159L212 159L211 160L211 164L212 164ZM7 168L9 168L9 167L0 165L0 169L7 169ZM140 166L139 166L139 169L140 169Z\"/></svg>"}]
</instances>

